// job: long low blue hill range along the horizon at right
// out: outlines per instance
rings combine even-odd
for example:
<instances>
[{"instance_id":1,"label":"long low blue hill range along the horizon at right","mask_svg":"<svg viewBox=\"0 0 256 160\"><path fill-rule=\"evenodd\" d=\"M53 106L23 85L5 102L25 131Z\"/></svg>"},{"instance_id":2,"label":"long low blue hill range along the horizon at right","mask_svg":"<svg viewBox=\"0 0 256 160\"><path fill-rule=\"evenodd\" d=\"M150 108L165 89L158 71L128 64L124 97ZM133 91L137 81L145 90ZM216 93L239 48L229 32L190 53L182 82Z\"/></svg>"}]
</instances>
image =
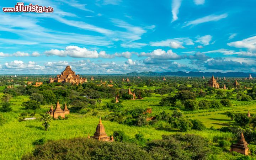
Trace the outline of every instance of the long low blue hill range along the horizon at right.
<instances>
[{"instance_id":1,"label":"long low blue hill range along the horizon at right","mask_svg":"<svg viewBox=\"0 0 256 160\"><path fill-rule=\"evenodd\" d=\"M177 71L177 72L151 72L151 71L144 71L144 72L131 72L127 74L122 74L126 76L192 76L192 77L210 77L214 75L215 77L249 77L249 73L244 72L227 72L227 73L221 73L221 72L183 72L183 71ZM256 77L256 74L251 73L252 77Z\"/></svg>"}]
</instances>

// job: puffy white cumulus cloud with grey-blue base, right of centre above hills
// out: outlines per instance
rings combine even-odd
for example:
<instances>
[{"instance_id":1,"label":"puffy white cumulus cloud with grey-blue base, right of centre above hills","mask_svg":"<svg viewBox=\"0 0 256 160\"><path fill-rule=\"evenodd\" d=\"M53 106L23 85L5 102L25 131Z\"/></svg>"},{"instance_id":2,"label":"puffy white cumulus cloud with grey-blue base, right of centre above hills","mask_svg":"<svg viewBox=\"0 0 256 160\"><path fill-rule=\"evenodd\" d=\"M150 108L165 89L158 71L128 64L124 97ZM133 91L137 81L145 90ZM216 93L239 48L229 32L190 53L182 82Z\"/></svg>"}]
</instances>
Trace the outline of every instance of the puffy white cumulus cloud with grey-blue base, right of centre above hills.
<instances>
[{"instance_id":1,"label":"puffy white cumulus cloud with grey-blue base, right of centre above hills","mask_svg":"<svg viewBox=\"0 0 256 160\"><path fill-rule=\"evenodd\" d=\"M153 52L150 53L145 53L142 52L140 53L139 56L145 56L145 57L151 57L153 59L181 59L182 57L180 55L177 55L176 53L172 52L172 50L165 50L162 49L156 49Z\"/></svg>"}]
</instances>

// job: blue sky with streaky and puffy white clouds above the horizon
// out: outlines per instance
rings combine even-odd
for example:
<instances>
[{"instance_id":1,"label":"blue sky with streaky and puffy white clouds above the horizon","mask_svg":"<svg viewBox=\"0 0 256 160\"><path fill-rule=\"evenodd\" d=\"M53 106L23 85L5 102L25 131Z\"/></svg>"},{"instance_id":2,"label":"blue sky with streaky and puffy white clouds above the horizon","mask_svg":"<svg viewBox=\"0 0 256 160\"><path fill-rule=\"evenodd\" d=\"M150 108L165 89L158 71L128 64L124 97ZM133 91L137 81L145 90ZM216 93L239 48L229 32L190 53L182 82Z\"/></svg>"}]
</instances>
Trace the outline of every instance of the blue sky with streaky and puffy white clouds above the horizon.
<instances>
[{"instance_id":1,"label":"blue sky with streaky and puffy white clouds above the horizon","mask_svg":"<svg viewBox=\"0 0 256 160\"><path fill-rule=\"evenodd\" d=\"M0 74L256 73L255 0L22 2L54 12L1 9Z\"/></svg>"}]
</instances>

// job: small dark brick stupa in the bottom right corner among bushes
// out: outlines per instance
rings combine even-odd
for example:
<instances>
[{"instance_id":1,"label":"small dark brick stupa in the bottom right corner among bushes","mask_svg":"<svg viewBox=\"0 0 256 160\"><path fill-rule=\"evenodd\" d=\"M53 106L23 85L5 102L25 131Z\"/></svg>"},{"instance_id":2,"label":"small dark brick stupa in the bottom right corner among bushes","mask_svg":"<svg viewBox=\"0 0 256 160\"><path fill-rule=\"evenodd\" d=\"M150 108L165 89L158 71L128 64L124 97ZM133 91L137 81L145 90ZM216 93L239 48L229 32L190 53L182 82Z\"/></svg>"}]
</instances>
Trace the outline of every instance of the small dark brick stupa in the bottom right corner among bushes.
<instances>
[{"instance_id":1,"label":"small dark brick stupa in the bottom right corner among bushes","mask_svg":"<svg viewBox=\"0 0 256 160\"><path fill-rule=\"evenodd\" d=\"M237 153L241 153L244 155L248 155L250 153L248 143L245 141L244 134L241 133L241 138L238 143L232 144L230 151L235 151Z\"/></svg>"}]
</instances>

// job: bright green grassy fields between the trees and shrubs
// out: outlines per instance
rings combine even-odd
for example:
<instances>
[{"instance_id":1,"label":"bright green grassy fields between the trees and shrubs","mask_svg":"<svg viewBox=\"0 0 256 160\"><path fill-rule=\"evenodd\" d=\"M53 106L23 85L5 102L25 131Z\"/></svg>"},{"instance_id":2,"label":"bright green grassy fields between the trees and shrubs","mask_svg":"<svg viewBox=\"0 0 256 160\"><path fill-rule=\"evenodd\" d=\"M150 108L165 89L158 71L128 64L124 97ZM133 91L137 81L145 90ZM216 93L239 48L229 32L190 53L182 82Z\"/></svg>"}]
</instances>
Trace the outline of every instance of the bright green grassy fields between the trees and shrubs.
<instances>
[{"instance_id":1,"label":"bright green grassy fields between the trees and shrubs","mask_svg":"<svg viewBox=\"0 0 256 160\"><path fill-rule=\"evenodd\" d=\"M3 90L0 87L0 91ZM3 94L0 93L0 97ZM153 97L146 97L143 100L122 100L123 108L122 110L132 110L136 108L152 108L152 116L166 111L167 113L172 113L173 110L170 110L170 107L159 106L159 102L162 97L158 94L153 94ZM45 113L49 110L50 105L41 106L41 109L38 110L34 117L36 120L22 121L19 122L18 118L22 112L27 112L21 106L22 102L29 100L28 96L18 96L12 98L12 111L8 113L2 113L4 118L7 119L7 123L4 126L0 126L0 159L21 159L22 155L30 153L33 151L34 146L33 142L37 139L46 138L47 140L58 140L58 139L70 139L74 137L87 137L87 134L94 134L96 126L99 121L99 117L104 117L109 114L110 111L106 110L97 110L97 116L91 116L93 111L90 111L86 114L71 113L68 115L68 119L65 120L53 120L50 122L50 128L46 132L39 122L40 114ZM103 99L101 106L105 105L107 102L110 102L109 99ZM238 102L232 101L233 106L229 108L222 108L221 110L198 110L198 111L182 111L185 117L191 119L198 119L203 122L203 124L210 128L221 128L224 126L229 126L234 122L230 118L226 117L223 114L226 111L240 111L242 113L247 113L248 109L251 113L256 112L255 102ZM172 108L173 109L173 108ZM30 111L33 112L33 111ZM200 113L199 113L200 112ZM161 139L162 135L176 134L181 133L177 129L171 130L171 132L164 130L156 130L154 126L145 126L145 127L135 127L135 126L126 126L118 124L115 122L105 121L103 119L103 124L106 129L106 133L110 135L114 131L122 130L130 138L133 138L135 134L143 134L147 139ZM212 142L213 137L220 136L225 137L226 140L232 139L231 133L222 133L214 130L205 130L197 131L191 130L186 133L201 135L202 137L207 138ZM183 133L185 134L185 133ZM223 153L226 154L226 153ZM225 155L228 157L230 155ZM223 159L223 157L218 157L218 159Z\"/></svg>"}]
</instances>

